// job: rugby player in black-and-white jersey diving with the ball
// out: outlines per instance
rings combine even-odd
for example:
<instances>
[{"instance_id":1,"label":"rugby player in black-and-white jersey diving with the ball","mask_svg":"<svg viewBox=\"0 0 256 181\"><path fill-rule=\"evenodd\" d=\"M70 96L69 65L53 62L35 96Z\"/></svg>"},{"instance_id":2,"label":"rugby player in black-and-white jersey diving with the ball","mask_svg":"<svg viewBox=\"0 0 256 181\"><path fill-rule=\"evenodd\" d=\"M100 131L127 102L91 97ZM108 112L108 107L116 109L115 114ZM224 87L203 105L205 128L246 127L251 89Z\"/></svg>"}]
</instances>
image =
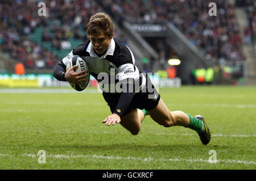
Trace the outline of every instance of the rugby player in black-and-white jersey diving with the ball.
<instances>
[{"instance_id":1,"label":"rugby player in black-and-white jersey diving with the ball","mask_svg":"<svg viewBox=\"0 0 256 181\"><path fill-rule=\"evenodd\" d=\"M66 66L72 56L78 55L86 61L90 74L103 82L101 76L108 75L110 80L103 82L102 95L108 103L112 115L102 123L114 125L120 123L131 134L138 134L146 115L164 127L182 126L195 130L204 145L207 145L211 133L204 118L193 117L183 111L170 111L164 104L150 78L138 70L131 50L113 39L114 26L108 15L99 12L91 16L87 24L88 39L73 50L56 65L53 76L59 81L68 81L81 85L85 81L85 71L76 73L77 66L66 72ZM114 75L115 78L111 78ZM114 80L114 82L111 80ZM121 85L121 91L110 91L111 85Z\"/></svg>"}]
</instances>

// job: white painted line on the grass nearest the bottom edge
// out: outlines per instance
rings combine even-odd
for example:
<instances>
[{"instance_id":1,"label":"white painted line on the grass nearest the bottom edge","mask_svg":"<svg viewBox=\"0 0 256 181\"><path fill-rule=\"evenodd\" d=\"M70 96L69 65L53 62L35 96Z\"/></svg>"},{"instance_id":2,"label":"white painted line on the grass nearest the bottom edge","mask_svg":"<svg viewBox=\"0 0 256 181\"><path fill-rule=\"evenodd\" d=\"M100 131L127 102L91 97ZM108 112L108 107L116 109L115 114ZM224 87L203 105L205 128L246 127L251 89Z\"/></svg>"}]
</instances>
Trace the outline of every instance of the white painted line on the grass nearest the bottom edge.
<instances>
[{"instance_id":1,"label":"white painted line on the grass nearest the bottom edge","mask_svg":"<svg viewBox=\"0 0 256 181\"><path fill-rule=\"evenodd\" d=\"M12 157L12 155L9 154L0 154L0 157ZM24 156L24 157L38 157L36 154L20 154L19 156ZM151 157L148 158L140 158L140 157L113 157L113 156L102 156L102 155L63 155L63 154L46 154L46 157L48 158L96 158L96 159L125 159L125 160L135 160L135 161L144 161L144 162L205 162L209 163L207 159L183 159L183 158L170 158L170 159L154 159ZM241 160L217 160L217 163L242 163L245 165L256 165L256 162L254 161L241 161Z\"/></svg>"}]
</instances>

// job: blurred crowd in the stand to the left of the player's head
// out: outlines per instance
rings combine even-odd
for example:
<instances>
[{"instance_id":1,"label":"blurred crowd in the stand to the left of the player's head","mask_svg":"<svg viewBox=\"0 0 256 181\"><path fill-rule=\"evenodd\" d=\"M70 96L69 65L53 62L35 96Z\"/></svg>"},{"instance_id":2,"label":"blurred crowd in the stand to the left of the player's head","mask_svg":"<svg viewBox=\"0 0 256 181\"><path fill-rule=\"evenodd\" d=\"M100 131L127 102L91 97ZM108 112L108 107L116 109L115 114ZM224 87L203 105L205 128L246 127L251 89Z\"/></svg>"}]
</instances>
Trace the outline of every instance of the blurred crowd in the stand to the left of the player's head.
<instances>
[{"instance_id":1,"label":"blurred crowd in the stand to the left of the player's head","mask_svg":"<svg viewBox=\"0 0 256 181\"><path fill-rule=\"evenodd\" d=\"M42 41L53 49L71 49L69 38L86 40L86 23L90 16L102 12L92 0L46 0L46 16L39 16L41 1L0 1L0 51L9 52L26 68L53 68L59 58L29 39L30 33L43 26ZM119 28L114 37L123 40Z\"/></svg>"}]
</instances>

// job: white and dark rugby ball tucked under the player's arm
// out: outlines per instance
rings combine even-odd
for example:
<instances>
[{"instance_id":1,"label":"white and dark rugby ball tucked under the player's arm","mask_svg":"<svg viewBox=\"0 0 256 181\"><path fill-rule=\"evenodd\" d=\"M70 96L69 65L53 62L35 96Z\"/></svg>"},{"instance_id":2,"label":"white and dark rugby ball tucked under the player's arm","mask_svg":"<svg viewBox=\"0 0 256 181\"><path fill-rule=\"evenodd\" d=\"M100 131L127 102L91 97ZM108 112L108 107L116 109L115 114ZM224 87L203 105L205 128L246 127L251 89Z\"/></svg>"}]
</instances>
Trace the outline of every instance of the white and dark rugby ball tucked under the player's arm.
<instances>
[{"instance_id":1,"label":"white and dark rugby ball tucked under the player's arm","mask_svg":"<svg viewBox=\"0 0 256 181\"><path fill-rule=\"evenodd\" d=\"M74 65L78 65L78 68L75 70L76 73L79 73L80 71L85 70L85 74L88 74L88 75L86 75L86 81L82 82L82 85L78 85L76 83L69 82L69 84L71 85L71 87L73 87L73 89L75 89L77 91L82 91L88 86L88 83L90 81L89 68L88 68L88 65L86 64L86 62L84 61L84 59L82 59L80 56L77 56L77 55L75 55L69 59L66 71L68 71L68 69L72 68L72 66L74 66Z\"/></svg>"}]
</instances>

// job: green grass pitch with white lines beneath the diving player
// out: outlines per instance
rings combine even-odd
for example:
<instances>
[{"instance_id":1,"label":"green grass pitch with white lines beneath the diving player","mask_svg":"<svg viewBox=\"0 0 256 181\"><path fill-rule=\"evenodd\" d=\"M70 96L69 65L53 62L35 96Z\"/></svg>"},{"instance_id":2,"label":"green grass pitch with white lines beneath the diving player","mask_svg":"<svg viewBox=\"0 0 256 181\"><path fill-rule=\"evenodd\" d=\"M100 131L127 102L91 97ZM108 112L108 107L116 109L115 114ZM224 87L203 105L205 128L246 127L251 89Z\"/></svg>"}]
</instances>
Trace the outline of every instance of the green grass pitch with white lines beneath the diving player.
<instances>
[{"instance_id":1,"label":"green grass pitch with white lines beneath the diving player","mask_svg":"<svg viewBox=\"0 0 256 181\"><path fill-rule=\"evenodd\" d=\"M0 169L256 169L256 87L159 90L171 111L205 117L213 134L207 146L195 131L164 128L150 116L137 136L120 124L107 127L104 98L85 91L0 93ZM46 163L38 162L39 150ZM210 150L217 163L208 162Z\"/></svg>"}]
</instances>

